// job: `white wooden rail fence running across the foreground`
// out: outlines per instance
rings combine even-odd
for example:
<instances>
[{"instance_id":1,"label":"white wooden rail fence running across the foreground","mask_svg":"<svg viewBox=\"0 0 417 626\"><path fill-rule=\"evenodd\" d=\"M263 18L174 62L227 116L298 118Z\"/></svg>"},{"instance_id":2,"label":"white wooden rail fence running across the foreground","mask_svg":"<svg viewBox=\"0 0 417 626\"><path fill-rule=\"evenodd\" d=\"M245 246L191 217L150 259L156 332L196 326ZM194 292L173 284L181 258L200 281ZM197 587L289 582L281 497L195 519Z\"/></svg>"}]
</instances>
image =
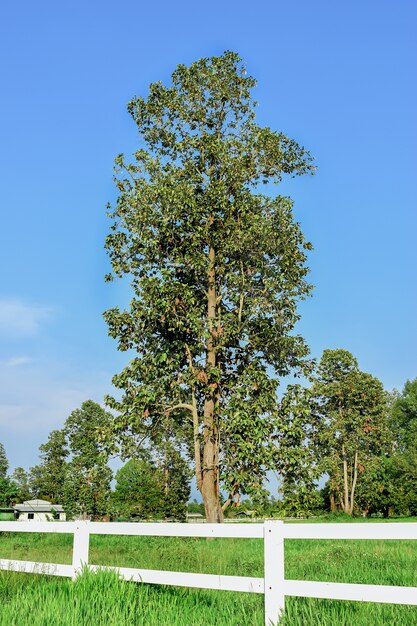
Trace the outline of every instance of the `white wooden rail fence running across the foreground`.
<instances>
[{"instance_id":1,"label":"white wooden rail fence running across the foreground","mask_svg":"<svg viewBox=\"0 0 417 626\"><path fill-rule=\"evenodd\" d=\"M417 605L417 587L328 583L284 578L284 539L417 539L417 523L359 524L141 524L103 522L0 522L0 532L72 533L72 565L15 561L0 558L0 569L75 578L88 564L90 535L147 535L163 537L228 537L264 540L264 576L222 576L192 574L129 567L109 567L121 578L143 583L246 591L265 596L265 624L279 621L285 596L360 600ZM1 557L1 541L0 541ZM97 565L88 567L96 571ZM377 564L376 564L377 567Z\"/></svg>"}]
</instances>

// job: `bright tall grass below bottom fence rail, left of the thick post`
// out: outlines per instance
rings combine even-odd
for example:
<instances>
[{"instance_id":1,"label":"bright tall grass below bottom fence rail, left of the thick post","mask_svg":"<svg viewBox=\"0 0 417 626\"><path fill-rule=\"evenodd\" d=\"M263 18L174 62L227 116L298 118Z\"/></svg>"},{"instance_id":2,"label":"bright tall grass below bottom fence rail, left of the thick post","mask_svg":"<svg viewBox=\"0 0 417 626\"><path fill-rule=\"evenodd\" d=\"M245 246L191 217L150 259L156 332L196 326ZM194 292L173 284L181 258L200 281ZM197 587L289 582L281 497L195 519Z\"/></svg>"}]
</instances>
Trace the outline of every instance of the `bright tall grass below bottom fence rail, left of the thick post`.
<instances>
[{"instance_id":1,"label":"bright tall grass below bottom fence rail, left of the thick post","mask_svg":"<svg viewBox=\"0 0 417 626\"><path fill-rule=\"evenodd\" d=\"M245 597L241 597L241 596ZM138 585L112 572L70 580L5 572L3 626L237 626L262 624L261 596Z\"/></svg>"}]
</instances>

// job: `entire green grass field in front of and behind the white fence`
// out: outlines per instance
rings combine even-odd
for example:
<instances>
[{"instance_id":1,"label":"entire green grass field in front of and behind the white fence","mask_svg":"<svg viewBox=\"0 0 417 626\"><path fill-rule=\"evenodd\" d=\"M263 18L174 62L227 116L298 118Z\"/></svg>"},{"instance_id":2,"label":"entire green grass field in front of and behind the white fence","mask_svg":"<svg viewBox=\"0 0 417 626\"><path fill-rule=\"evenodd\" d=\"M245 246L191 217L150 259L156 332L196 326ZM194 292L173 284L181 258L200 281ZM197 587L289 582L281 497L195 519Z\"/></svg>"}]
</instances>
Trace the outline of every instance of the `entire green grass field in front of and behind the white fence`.
<instances>
[{"instance_id":1,"label":"entire green grass field in front of and behind the white fence","mask_svg":"<svg viewBox=\"0 0 417 626\"><path fill-rule=\"evenodd\" d=\"M92 536L90 546L98 565L263 575L256 539ZM70 563L71 550L71 535L0 535L1 558ZM286 578L417 586L417 542L287 540L285 551ZM263 626L261 595L142 586L109 572L75 583L0 572L0 607L8 626ZM288 598L281 623L416 626L417 607Z\"/></svg>"}]
</instances>

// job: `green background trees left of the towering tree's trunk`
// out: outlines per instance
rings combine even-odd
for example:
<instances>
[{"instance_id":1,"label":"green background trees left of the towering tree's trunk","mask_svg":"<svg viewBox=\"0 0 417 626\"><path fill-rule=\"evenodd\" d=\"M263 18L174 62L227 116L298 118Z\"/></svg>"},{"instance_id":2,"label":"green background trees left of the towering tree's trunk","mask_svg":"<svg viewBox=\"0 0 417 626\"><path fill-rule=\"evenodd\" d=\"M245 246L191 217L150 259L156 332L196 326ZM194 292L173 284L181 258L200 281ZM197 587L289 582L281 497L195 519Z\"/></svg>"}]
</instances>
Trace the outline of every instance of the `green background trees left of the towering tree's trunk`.
<instances>
[{"instance_id":1,"label":"green background trees left of the towering tree's trunk","mask_svg":"<svg viewBox=\"0 0 417 626\"><path fill-rule=\"evenodd\" d=\"M185 519L190 495L186 461L169 445L151 454L141 451L115 476L106 443L113 416L88 400L74 410L64 427L53 430L39 448L40 463L8 475L0 444L0 506L28 499L62 504L69 518L110 517Z\"/></svg>"}]
</instances>

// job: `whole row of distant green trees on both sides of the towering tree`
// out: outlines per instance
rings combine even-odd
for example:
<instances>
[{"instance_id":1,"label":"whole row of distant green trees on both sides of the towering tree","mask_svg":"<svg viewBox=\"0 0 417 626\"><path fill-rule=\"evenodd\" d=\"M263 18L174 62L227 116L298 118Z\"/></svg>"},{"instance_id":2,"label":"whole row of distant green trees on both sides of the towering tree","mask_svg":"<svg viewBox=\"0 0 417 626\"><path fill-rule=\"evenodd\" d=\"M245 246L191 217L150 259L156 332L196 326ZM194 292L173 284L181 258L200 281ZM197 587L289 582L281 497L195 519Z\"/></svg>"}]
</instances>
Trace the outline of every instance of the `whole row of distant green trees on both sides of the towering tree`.
<instances>
[{"instance_id":1,"label":"whole row of distant green trees on both sides of the towering tree","mask_svg":"<svg viewBox=\"0 0 417 626\"><path fill-rule=\"evenodd\" d=\"M347 350L325 350L309 386L289 385L273 434L279 490L245 493L228 516L417 515L417 378L388 393ZM108 463L117 417L88 400L40 446L28 471L9 464L0 443L0 506L41 498L71 517L185 519L190 457L174 437L125 451ZM224 500L225 498L223 498ZM194 501L191 512L204 512Z\"/></svg>"}]
</instances>

